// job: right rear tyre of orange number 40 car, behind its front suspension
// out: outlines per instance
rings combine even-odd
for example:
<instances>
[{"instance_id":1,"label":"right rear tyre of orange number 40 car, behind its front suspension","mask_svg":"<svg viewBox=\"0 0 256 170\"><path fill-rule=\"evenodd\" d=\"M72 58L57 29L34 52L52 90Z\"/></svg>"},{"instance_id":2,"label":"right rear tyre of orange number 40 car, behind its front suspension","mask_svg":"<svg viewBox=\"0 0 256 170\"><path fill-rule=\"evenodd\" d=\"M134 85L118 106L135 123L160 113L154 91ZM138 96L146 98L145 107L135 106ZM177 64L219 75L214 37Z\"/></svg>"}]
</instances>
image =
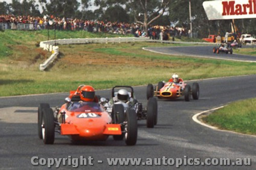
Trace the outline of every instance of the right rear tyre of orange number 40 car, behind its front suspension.
<instances>
[{"instance_id":1,"label":"right rear tyre of orange number 40 car, behind its front suspension","mask_svg":"<svg viewBox=\"0 0 256 170\"><path fill-rule=\"evenodd\" d=\"M112 110L112 116L114 120L114 124L121 124L125 121L125 116L124 116L124 107L121 104L116 104L113 106ZM121 126L121 130L124 130L124 127ZM123 140L124 133L121 135L113 135L114 140Z\"/></svg>"}]
</instances>

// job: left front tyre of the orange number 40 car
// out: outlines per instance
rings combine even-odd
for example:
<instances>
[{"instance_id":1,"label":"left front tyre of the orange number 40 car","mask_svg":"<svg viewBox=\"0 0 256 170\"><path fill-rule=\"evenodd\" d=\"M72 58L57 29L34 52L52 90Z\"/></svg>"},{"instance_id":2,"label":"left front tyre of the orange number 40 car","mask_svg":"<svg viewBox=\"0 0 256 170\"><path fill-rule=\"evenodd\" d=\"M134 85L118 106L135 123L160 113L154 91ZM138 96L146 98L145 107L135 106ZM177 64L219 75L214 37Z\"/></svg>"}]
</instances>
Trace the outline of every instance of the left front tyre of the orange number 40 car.
<instances>
[{"instance_id":1,"label":"left front tyre of the orange number 40 car","mask_svg":"<svg viewBox=\"0 0 256 170\"><path fill-rule=\"evenodd\" d=\"M45 144L53 144L55 137L54 116L51 108L42 109L42 140Z\"/></svg>"}]
</instances>

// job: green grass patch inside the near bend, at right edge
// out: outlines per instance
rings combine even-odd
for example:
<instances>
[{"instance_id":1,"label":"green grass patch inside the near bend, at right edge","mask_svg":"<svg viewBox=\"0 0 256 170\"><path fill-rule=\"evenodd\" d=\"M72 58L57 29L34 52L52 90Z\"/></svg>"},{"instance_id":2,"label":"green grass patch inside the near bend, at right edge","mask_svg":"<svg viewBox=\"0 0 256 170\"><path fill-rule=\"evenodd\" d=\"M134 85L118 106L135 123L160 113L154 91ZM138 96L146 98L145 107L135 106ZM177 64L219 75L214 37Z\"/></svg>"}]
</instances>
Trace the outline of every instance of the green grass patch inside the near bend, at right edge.
<instances>
[{"instance_id":1,"label":"green grass patch inside the near bend, at right edge","mask_svg":"<svg viewBox=\"0 0 256 170\"><path fill-rule=\"evenodd\" d=\"M256 135L256 99L231 103L202 119L219 129Z\"/></svg>"}]
</instances>

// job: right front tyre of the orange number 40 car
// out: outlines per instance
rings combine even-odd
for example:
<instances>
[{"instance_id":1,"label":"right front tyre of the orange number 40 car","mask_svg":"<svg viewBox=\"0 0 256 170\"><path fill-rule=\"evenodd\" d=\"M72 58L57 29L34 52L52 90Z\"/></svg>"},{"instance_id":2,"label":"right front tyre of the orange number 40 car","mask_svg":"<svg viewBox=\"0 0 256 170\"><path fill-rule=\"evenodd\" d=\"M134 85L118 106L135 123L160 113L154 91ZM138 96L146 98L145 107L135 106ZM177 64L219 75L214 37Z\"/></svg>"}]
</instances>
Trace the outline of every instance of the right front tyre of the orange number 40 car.
<instances>
[{"instance_id":1,"label":"right front tyre of the orange number 40 car","mask_svg":"<svg viewBox=\"0 0 256 170\"><path fill-rule=\"evenodd\" d=\"M137 114L133 109L126 110L126 125L125 126L125 143L127 145L135 145L138 136Z\"/></svg>"}]
</instances>

